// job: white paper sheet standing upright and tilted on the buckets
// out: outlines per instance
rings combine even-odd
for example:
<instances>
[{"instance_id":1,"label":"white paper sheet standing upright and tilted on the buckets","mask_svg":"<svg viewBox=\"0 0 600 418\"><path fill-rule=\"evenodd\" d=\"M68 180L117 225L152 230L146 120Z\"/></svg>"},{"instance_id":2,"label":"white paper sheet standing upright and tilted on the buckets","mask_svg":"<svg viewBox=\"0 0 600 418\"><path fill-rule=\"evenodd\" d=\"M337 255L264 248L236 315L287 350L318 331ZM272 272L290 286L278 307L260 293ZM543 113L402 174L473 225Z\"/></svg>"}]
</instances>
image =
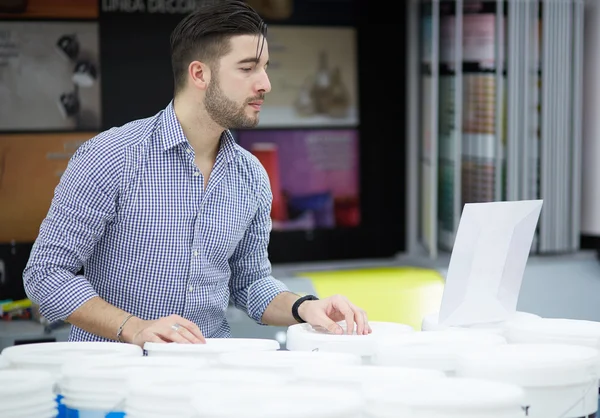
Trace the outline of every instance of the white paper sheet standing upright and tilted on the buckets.
<instances>
[{"instance_id":1,"label":"white paper sheet standing upright and tilted on the buckets","mask_svg":"<svg viewBox=\"0 0 600 418\"><path fill-rule=\"evenodd\" d=\"M497 322L516 312L542 203L465 204L450 257L440 324Z\"/></svg>"}]
</instances>

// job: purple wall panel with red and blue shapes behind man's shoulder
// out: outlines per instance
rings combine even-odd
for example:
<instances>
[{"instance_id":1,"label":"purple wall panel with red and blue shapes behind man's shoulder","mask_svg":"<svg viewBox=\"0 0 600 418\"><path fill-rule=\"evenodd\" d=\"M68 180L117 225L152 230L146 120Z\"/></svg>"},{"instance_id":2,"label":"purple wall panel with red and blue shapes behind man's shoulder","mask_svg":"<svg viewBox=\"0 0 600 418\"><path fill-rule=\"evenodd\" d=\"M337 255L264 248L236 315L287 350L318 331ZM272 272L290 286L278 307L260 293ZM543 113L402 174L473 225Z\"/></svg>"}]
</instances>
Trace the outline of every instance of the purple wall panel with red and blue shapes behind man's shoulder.
<instances>
[{"instance_id":1,"label":"purple wall panel with red and blue shapes behind man's shoulder","mask_svg":"<svg viewBox=\"0 0 600 418\"><path fill-rule=\"evenodd\" d=\"M360 224L356 131L240 131L237 141L267 170L273 230Z\"/></svg>"}]
</instances>

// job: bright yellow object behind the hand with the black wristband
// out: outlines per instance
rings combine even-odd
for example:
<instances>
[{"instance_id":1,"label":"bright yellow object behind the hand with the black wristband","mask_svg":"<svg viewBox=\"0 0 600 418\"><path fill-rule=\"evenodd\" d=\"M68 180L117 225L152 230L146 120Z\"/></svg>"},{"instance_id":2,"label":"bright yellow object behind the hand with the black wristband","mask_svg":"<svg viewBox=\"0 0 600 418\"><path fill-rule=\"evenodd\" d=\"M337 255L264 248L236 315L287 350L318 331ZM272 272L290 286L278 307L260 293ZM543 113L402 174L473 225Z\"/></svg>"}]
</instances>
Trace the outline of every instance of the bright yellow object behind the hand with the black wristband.
<instances>
[{"instance_id":1,"label":"bright yellow object behind the hand with the black wristband","mask_svg":"<svg viewBox=\"0 0 600 418\"><path fill-rule=\"evenodd\" d=\"M319 298L346 296L367 312L370 321L398 322L421 330L423 317L439 311L444 278L433 269L385 267L309 271Z\"/></svg>"}]
</instances>

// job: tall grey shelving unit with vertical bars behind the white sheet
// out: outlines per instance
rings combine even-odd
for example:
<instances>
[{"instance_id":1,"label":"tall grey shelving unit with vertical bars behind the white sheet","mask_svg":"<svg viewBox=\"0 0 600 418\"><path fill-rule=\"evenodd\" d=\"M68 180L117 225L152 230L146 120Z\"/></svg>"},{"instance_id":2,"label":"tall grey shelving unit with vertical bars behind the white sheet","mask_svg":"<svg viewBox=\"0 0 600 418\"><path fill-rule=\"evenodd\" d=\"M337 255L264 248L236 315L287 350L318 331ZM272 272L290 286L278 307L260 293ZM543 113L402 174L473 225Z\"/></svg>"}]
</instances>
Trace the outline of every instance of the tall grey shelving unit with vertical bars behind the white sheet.
<instances>
[{"instance_id":1,"label":"tall grey shelving unit with vertical bars behind the white sheet","mask_svg":"<svg viewBox=\"0 0 600 418\"><path fill-rule=\"evenodd\" d=\"M579 248L584 6L410 2L409 252L451 251L465 203L529 199L532 252Z\"/></svg>"}]
</instances>

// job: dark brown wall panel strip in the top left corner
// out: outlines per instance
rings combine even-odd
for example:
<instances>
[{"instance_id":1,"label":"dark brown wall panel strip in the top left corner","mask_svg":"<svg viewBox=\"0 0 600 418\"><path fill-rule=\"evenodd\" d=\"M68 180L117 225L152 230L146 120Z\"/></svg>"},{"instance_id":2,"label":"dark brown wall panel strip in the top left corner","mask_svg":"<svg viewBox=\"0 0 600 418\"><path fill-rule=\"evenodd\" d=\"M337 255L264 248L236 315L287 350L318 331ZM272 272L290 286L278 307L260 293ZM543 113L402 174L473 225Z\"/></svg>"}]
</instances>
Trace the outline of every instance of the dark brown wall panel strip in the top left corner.
<instances>
[{"instance_id":1,"label":"dark brown wall panel strip in the top left corner","mask_svg":"<svg viewBox=\"0 0 600 418\"><path fill-rule=\"evenodd\" d=\"M100 1L107 0L2 0L0 18L95 19Z\"/></svg>"}]
</instances>

